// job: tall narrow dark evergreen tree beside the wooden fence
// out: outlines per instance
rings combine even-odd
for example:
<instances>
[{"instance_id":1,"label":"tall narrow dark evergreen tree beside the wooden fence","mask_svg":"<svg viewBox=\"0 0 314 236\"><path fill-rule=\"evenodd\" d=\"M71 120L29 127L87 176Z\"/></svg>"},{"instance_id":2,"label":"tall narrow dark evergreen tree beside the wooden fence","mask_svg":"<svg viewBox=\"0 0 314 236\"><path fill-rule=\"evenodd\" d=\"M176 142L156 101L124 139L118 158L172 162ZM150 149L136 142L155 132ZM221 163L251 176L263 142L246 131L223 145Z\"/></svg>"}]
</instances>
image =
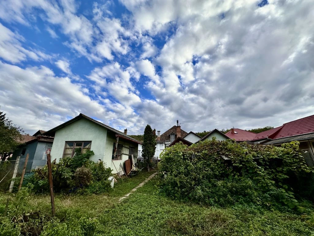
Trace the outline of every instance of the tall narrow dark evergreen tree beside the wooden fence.
<instances>
[{"instance_id":1,"label":"tall narrow dark evergreen tree beside the wooden fence","mask_svg":"<svg viewBox=\"0 0 314 236\"><path fill-rule=\"evenodd\" d=\"M147 125L143 135L143 149L142 155L144 161L147 163L147 170L149 171L149 160L153 158L156 149L156 130L152 130L150 125Z\"/></svg>"}]
</instances>

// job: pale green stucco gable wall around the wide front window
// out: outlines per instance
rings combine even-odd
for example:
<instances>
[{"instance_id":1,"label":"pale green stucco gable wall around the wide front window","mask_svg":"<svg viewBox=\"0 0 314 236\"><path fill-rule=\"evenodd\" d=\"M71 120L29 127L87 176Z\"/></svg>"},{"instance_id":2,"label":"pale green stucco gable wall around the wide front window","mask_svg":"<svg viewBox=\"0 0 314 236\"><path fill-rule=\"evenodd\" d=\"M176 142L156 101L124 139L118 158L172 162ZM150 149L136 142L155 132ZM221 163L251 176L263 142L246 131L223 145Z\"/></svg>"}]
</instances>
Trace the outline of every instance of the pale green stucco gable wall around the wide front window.
<instances>
[{"instance_id":1,"label":"pale green stucco gable wall around the wide front window","mask_svg":"<svg viewBox=\"0 0 314 236\"><path fill-rule=\"evenodd\" d=\"M62 158L67 141L91 141L90 149L94 151L95 155L91 156L90 160L97 162L98 159L101 159L105 161L106 136L107 129L104 127L84 118L74 121L56 131L51 149L51 160L57 159L59 161Z\"/></svg>"}]
</instances>

